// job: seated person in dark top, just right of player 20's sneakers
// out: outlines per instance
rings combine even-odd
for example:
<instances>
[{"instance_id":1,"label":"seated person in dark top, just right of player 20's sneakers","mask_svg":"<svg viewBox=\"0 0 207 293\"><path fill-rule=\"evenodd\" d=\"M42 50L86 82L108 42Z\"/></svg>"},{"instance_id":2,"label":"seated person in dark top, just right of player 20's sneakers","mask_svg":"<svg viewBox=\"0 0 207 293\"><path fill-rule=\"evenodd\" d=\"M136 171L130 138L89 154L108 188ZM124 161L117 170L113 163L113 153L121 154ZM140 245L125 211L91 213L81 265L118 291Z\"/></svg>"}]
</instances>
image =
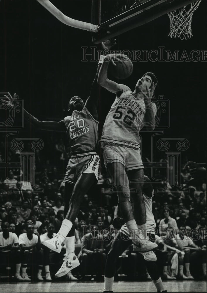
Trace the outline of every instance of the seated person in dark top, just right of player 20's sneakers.
<instances>
[{"instance_id":1,"label":"seated person in dark top, just right of player 20's sneakers","mask_svg":"<svg viewBox=\"0 0 207 293\"><path fill-rule=\"evenodd\" d=\"M82 277L91 272L99 279L105 267L106 254L103 252L103 238L98 234L97 226L81 239L82 246L78 258L81 263Z\"/></svg>"}]
</instances>

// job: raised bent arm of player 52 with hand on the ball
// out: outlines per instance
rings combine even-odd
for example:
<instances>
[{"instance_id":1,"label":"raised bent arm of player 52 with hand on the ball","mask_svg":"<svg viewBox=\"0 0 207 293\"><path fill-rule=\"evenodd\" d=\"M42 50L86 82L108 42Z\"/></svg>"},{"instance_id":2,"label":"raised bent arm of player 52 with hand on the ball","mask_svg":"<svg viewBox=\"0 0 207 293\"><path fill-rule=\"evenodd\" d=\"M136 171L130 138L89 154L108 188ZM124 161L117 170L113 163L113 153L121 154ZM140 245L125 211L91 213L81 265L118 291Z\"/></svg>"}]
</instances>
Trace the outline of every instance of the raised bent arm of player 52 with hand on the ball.
<instances>
[{"instance_id":1,"label":"raised bent arm of player 52 with hand on the ball","mask_svg":"<svg viewBox=\"0 0 207 293\"><path fill-rule=\"evenodd\" d=\"M121 58L123 58L124 56L126 55L121 56L121 54L108 54L102 57L103 59L101 61L102 65L100 67L99 74L98 74L98 84L100 84L100 86L102 86L103 88L106 88L108 91L115 93L116 95L120 93L121 91L130 90L130 88L125 85L117 84L117 82L108 79L107 71L109 67L109 62L112 62L112 64L116 66L116 64L114 63L114 60L118 62L122 62ZM126 89L124 87L126 87Z\"/></svg>"}]
</instances>

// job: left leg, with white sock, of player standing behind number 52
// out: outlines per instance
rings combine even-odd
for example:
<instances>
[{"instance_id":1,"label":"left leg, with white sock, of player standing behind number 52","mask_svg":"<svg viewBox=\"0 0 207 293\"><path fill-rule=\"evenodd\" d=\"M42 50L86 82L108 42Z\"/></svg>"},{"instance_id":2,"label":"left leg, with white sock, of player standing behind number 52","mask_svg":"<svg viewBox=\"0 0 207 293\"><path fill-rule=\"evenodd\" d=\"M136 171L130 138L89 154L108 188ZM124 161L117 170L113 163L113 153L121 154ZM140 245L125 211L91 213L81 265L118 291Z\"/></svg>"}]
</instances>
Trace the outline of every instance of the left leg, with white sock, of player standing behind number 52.
<instances>
[{"instance_id":1,"label":"left leg, with white sock, of player standing behind number 52","mask_svg":"<svg viewBox=\"0 0 207 293\"><path fill-rule=\"evenodd\" d=\"M125 236L125 239L126 238L127 236ZM117 259L129 245L131 245L129 237L128 240L124 240L123 233L118 232L112 241L110 251L107 255L103 292L112 292Z\"/></svg>"}]
</instances>

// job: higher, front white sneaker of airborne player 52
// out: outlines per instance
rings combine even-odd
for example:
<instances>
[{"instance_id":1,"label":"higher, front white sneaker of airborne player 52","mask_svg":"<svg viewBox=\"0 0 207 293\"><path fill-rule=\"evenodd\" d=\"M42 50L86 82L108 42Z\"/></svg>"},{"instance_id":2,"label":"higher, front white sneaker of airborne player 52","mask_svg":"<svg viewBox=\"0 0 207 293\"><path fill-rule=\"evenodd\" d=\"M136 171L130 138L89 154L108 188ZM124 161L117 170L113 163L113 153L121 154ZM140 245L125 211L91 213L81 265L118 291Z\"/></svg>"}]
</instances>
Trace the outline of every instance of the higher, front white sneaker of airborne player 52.
<instances>
[{"instance_id":1,"label":"higher, front white sneaker of airborne player 52","mask_svg":"<svg viewBox=\"0 0 207 293\"><path fill-rule=\"evenodd\" d=\"M158 247L157 244L146 239L139 229L135 231L134 237L131 236L131 240L133 243L133 251L148 252Z\"/></svg>"}]
</instances>

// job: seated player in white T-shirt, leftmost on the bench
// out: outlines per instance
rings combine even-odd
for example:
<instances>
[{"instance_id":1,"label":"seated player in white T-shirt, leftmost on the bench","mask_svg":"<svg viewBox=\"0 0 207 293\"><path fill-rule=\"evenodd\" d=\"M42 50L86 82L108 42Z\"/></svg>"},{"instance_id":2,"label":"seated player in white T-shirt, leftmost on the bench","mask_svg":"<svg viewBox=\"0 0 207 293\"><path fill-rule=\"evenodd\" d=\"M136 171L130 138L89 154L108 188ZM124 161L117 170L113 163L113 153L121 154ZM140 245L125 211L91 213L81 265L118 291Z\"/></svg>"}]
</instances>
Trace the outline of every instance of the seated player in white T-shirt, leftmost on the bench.
<instances>
[{"instance_id":1,"label":"seated player in white T-shirt, leftmost on the bench","mask_svg":"<svg viewBox=\"0 0 207 293\"><path fill-rule=\"evenodd\" d=\"M2 224L2 232L0 232L0 258L1 258L1 273L7 270L7 275L10 275L11 266L16 264L15 279L23 281L20 276L21 255L19 250L19 241L15 233L9 232L9 223Z\"/></svg>"}]
</instances>

